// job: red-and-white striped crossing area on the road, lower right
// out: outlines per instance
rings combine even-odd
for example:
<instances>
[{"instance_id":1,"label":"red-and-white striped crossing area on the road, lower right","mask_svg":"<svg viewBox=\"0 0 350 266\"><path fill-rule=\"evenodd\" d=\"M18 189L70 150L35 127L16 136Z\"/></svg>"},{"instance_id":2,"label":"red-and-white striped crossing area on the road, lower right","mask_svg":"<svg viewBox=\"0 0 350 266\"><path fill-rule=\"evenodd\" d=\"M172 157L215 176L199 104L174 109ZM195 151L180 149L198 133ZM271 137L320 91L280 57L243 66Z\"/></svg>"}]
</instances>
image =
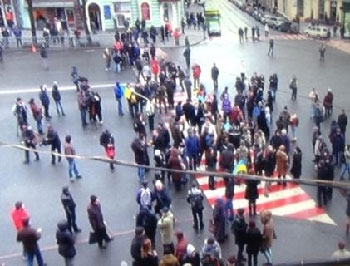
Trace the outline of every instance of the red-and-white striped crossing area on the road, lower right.
<instances>
[{"instance_id":1,"label":"red-and-white striped crossing area on the road, lower right","mask_svg":"<svg viewBox=\"0 0 350 266\"><path fill-rule=\"evenodd\" d=\"M199 171L205 170L204 160L201 161ZM277 177L277 173L274 173ZM290 176L287 179L291 180ZM196 175L196 180L203 191L209 205L213 208L214 202L218 198L225 198L225 184L223 178L217 178L215 190L210 190L208 186L208 176ZM273 215L283 216L291 219L308 220L325 224L336 225L331 217L319 208L316 202L298 184L288 182L285 187L272 182L268 189L268 197L264 196L264 182L258 186L259 198L256 201L257 212L270 210ZM239 208L248 212L248 200L245 199L245 184L235 186L233 200L234 210Z\"/></svg>"}]
</instances>

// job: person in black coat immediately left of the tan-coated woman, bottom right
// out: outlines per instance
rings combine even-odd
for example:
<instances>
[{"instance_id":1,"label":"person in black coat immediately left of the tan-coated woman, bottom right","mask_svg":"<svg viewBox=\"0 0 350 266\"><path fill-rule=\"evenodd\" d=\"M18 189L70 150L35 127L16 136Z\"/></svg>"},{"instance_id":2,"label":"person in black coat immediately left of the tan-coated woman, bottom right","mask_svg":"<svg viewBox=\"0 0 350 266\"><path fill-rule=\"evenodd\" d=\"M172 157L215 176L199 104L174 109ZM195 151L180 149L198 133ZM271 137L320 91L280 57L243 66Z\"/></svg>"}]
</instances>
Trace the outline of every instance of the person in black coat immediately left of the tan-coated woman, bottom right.
<instances>
[{"instance_id":1,"label":"person in black coat immediately left of the tan-coated woman, bottom right","mask_svg":"<svg viewBox=\"0 0 350 266\"><path fill-rule=\"evenodd\" d=\"M248 230L245 237L247 244L246 252L248 254L248 266L253 266L252 258L254 261L254 266L258 266L258 254L260 251L262 235L259 228L255 226L255 222L253 220L249 221Z\"/></svg>"}]
</instances>

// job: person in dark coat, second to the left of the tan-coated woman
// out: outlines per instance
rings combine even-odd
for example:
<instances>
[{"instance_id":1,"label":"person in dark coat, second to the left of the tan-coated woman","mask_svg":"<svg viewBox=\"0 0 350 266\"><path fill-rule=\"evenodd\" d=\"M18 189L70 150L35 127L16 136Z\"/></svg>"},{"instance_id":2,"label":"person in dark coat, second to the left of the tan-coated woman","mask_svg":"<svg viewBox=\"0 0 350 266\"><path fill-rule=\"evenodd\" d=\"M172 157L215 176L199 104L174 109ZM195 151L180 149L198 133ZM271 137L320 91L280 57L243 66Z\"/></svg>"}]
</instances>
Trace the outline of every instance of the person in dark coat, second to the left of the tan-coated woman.
<instances>
[{"instance_id":1,"label":"person in dark coat, second to the left of the tan-coated woman","mask_svg":"<svg viewBox=\"0 0 350 266\"><path fill-rule=\"evenodd\" d=\"M244 219L244 209L238 209L238 214L232 224L232 233L235 236L235 244L238 246L237 260L243 262L244 244L246 243L247 223Z\"/></svg>"}]
</instances>

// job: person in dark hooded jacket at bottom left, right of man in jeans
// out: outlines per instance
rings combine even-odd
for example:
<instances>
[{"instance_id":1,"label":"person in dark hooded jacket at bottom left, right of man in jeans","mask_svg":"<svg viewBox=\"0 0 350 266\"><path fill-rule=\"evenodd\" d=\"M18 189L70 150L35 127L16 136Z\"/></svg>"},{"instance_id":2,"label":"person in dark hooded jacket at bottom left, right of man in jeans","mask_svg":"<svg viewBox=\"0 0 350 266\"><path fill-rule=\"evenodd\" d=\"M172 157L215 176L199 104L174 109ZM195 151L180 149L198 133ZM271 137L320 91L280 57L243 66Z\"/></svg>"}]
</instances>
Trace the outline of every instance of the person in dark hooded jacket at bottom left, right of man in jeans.
<instances>
[{"instance_id":1,"label":"person in dark hooded jacket at bottom left, right of man in jeans","mask_svg":"<svg viewBox=\"0 0 350 266\"><path fill-rule=\"evenodd\" d=\"M73 259L76 255L74 246L75 238L73 233L68 229L68 222L62 220L57 224L56 240L58 245L58 254L65 261L66 266L73 266Z\"/></svg>"}]
</instances>

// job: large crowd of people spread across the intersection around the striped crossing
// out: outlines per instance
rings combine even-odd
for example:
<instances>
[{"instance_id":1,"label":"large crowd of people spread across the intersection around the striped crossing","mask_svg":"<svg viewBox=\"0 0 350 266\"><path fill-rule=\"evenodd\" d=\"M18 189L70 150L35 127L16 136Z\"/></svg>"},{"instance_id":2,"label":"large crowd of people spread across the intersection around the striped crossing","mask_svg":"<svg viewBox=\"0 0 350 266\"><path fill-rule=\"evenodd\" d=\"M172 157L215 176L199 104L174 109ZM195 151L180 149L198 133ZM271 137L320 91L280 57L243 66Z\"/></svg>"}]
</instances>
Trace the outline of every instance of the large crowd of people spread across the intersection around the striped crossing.
<instances>
[{"instance_id":1,"label":"large crowd of people spread across the intersection around the striped crossing","mask_svg":"<svg viewBox=\"0 0 350 266\"><path fill-rule=\"evenodd\" d=\"M116 46L117 43L116 37ZM134 50L137 50L137 46ZM104 55L106 70L109 70L111 57L108 51L105 51ZM147 56L147 53L145 55L141 55L138 51L131 58L130 55L128 57L135 69L136 83L124 86L116 82L113 88L117 114L125 115L123 106L125 98L126 109L129 111L131 125L136 134L130 148L135 155L141 188L136 195L139 212L136 216L135 237L130 247L133 265L236 265L246 260L243 255L245 246L249 265L258 265L257 255L260 251L266 258L266 265L272 265L271 247L276 238L272 214L268 210L260 211L261 230L258 228L256 219L258 213L256 201L260 196L259 181L246 181L245 198L248 201L249 213L245 215L243 209L238 210L237 213L234 213L233 209L235 185L240 180L235 176L224 178L225 196L215 201L213 217L208 224L212 236L205 239L199 252L187 241L182 230L174 229L176 214L173 213L173 203L166 183L174 184L175 193L182 190L189 178L188 175L179 171L196 171L201 169L202 164L207 170L213 172L233 173L240 165L244 166L246 172L251 175L273 177L277 173L276 181L282 187L287 185L286 177L289 171L293 178L300 178L303 153L301 147L297 145L298 114L290 111L288 106L284 106L279 114L276 114L276 111L274 113L278 75L272 74L268 82L265 82L264 76L258 73L254 73L251 77L241 73L236 78L235 91L225 87L218 93L220 72L214 64L211 71L214 87L214 93L212 93L200 82L201 69L198 64L193 65L192 68L192 83L188 66L183 70L181 66L165 61L164 58L158 62L155 49L150 49L149 55ZM96 125L97 121L102 124L100 95L91 89L86 78L79 77L74 67L71 76L73 83L77 86L77 103L82 127L85 128L88 124ZM185 103L175 102L175 93L178 88L186 91ZM289 88L291 99L296 101L298 80L295 76L292 77ZM310 118L315 124L312 145L317 178L333 180L334 168L342 164L345 167L341 178L346 171L350 178L350 149L345 146L347 116L343 110L338 119L332 121L328 135L332 145L330 151L327 148L327 141L322 137L321 123L333 115L334 95L332 90L328 89L323 102L319 97L316 89L309 94L312 102ZM57 115L65 116L57 82L53 83L52 99L57 107ZM38 105L34 98L29 100L29 106L41 137L38 137L29 125L28 110L21 98L17 98L12 108L22 134L23 144L28 148L25 150L25 163L30 161L31 149L35 153L36 160L39 160L37 145L50 145L53 152L52 164L56 163L56 159L60 162L61 157L65 156L69 165L69 179L72 182L75 179L81 179L82 176L75 163L74 155L77 153L71 143L72 137L65 136L62 153L60 137L53 127L49 125L44 132L44 118L46 121L51 119L50 97L46 85L40 88L39 100L42 106ZM169 110L171 110L171 118L168 125L164 121L155 121L157 112L162 114L163 111L168 113ZM276 121L274 117L277 118ZM322 131L325 132L326 129ZM114 137L109 130L102 132L100 144L105 149L106 157L111 159L110 168L114 171L113 159L116 152ZM152 152L151 156L149 152ZM152 164L152 158L154 165L161 167L161 170L154 171L154 179L147 175L147 169L144 167ZM208 177L210 189L216 189L217 180L215 175ZM151 188L150 181L153 181L154 189ZM264 184L265 197L269 196L270 185L269 182ZM74 233L79 233L81 230L76 225L75 203L67 187L63 188L61 199L67 220L58 223L57 241L59 252L65 258L66 265L72 265L72 258L76 253ZM332 187L319 186L318 205L326 205L331 199ZM202 191L195 182L191 182L186 201L190 205L193 228L197 232L202 232L205 228L203 200ZM20 202L16 203L15 210L21 209L23 205ZM93 238L91 242L97 242L100 248L106 248L105 242L110 242L112 236L107 232L108 227L104 222L97 196L91 195L87 213L94 233L91 236ZM28 265L32 265L34 256L37 257L39 265L44 265L37 246L41 232L31 228L27 214L22 212L22 215L18 219L13 219L16 229L19 230L17 240L23 242ZM249 217L248 222L247 217ZM161 258L158 258L154 251L157 230L163 247ZM225 260L221 254L220 243L225 241L229 230L235 236L238 252L237 256L231 256Z\"/></svg>"}]
</instances>

